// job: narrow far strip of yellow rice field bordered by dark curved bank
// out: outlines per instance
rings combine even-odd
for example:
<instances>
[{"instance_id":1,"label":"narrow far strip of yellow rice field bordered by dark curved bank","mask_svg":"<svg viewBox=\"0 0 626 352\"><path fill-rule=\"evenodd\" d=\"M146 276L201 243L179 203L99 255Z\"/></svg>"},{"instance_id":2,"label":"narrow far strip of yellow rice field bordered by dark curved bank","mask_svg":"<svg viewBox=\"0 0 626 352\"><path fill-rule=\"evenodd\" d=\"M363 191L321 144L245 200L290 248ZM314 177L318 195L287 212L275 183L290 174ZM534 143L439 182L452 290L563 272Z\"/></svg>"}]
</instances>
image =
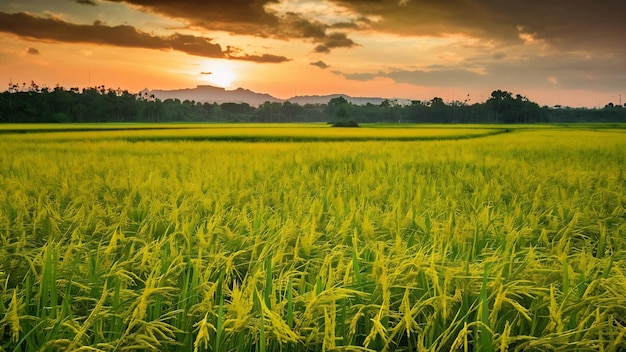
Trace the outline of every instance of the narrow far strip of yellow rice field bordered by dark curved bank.
<instances>
[{"instance_id":1,"label":"narrow far strip of yellow rice field bordered by dark curved bank","mask_svg":"<svg viewBox=\"0 0 626 352\"><path fill-rule=\"evenodd\" d=\"M364 128L332 128L328 124L48 124L1 127L0 134L4 133L7 138L15 138L17 135L19 140L32 141L410 141L468 139L510 131L497 125L403 125L385 128L366 125Z\"/></svg>"}]
</instances>

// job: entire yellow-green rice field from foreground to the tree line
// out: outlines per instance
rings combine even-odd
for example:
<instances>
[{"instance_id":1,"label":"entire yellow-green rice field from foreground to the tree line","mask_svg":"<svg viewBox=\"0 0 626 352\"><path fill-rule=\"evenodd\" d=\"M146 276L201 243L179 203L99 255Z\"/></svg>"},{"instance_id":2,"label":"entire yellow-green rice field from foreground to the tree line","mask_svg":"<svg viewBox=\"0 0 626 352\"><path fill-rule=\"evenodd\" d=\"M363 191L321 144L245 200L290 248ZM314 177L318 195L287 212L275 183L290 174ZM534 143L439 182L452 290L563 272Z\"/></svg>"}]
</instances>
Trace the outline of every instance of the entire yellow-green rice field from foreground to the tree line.
<instances>
[{"instance_id":1,"label":"entire yellow-green rice field from foreground to the tree line","mask_svg":"<svg viewBox=\"0 0 626 352\"><path fill-rule=\"evenodd\" d=\"M622 126L161 127L0 135L0 351L626 349Z\"/></svg>"}]
</instances>

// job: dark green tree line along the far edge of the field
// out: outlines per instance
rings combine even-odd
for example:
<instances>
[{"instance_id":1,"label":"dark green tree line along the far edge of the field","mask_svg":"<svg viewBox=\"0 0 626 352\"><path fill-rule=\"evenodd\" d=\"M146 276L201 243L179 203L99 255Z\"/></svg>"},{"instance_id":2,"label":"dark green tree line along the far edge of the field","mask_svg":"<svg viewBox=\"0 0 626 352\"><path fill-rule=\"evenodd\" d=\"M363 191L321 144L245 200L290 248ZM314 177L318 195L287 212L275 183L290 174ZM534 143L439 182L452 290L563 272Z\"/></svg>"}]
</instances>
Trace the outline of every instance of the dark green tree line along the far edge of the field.
<instances>
[{"instance_id":1,"label":"dark green tree line along the far edge of the field","mask_svg":"<svg viewBox=\"0 0 626 352\"><path fill-rule=\"evenodd\" d=\"M602 109L540 107L524 96L495 90L484 103L446 103L435 97L401 104L354 105L344 97L326 104L299 105L265 102L201 103L179 99L159 100L105 86L88 88L40 87L10 84L0 93L0 123L78 122L342 122L358 123L545 123L626 122L624 106Z\"/></svg>"}]
</instances>

